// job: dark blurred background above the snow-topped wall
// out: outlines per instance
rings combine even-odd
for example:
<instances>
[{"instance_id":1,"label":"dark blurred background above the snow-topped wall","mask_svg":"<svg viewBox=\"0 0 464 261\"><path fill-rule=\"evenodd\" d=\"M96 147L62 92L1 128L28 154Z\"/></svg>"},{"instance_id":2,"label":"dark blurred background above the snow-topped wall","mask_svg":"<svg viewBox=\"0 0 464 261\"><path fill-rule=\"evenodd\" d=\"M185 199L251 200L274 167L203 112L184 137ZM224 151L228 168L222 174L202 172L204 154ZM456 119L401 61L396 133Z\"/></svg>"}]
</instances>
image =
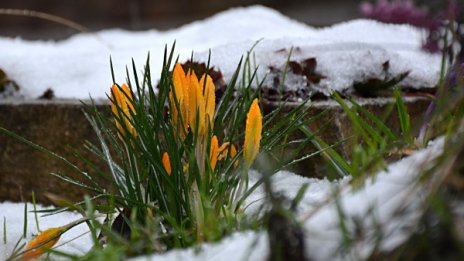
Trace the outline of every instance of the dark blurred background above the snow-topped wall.
<instances>
[{"instance_id":1,"label":"dark blurred background above the snow-topped wall","mask_svg":"<svg viewBox=\"0 0 464 261\"><path fill-rule=\"evenodd\" d=\"M235 6L261 4L312 26L359 17L359 0L1 0L0 8L61 16L92 31L105 28L168 30ZM0 36L63 39L76 30L33 17L0 15Z\"/></svg>"}]
</instances>

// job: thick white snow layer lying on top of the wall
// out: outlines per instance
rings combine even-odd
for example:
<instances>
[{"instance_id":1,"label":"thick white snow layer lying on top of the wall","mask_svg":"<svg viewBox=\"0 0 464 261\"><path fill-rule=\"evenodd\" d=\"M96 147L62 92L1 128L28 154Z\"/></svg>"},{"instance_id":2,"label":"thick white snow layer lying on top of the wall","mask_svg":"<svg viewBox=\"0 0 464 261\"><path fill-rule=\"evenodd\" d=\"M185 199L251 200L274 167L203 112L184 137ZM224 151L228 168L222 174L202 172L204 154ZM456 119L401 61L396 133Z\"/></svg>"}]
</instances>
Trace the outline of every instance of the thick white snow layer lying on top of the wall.
<instances>
[{"instance_id":1,"label":"thick white snow layer lying on top of the wall","mask_svg":"<svg viewBox=\"0 0 464 261\"><path fill-rule=\"evenodd\" d=\"M36 98L51 88L59 98L104 98L112 83L109 57L116 78L125 81L126 65L134 58L141 70L151 54L153 77L162 66L164 47L176 41L176 53L185 61L194 52L197 61L219 68L227 81L240 57L256 43L259 75L280 70L293 47L291 60L317 60L318 83L288 79L287 88L311 88L325 94L349 91L355 82L409 72L401 86L433 87L438 82L440 57L421 50L425 32L411 27L354 20L316 29L262 6L235 8L178 29L129 32L118 29L77 34L63 41L25 41L0 37L0 68L21 87L21 94ZM280 68L280 69L279 69ZM269 81L272 77L268 77ZM269 83L271 85L271 83Z\"/></svg>"}]
</instances>

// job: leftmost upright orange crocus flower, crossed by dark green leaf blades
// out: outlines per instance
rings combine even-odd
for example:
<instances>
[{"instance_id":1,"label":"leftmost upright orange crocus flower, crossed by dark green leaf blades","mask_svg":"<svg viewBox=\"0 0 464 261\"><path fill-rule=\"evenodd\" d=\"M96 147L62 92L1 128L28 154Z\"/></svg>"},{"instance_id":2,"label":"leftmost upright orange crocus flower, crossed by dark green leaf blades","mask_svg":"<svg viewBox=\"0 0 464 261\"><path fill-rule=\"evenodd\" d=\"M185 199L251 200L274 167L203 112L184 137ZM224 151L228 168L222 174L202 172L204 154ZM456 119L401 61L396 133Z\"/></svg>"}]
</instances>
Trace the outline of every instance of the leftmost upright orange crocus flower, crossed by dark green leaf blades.
<instances>
[{"instance_id":1,"label":"leftmost upright orange crocus flower, crossed by dark green leaf blades","mask_svg":"<svg viewBox=\"0 0 464 261\"><path fill-rule=\"evenodd\" d=\"M132 92L129 87L126 84L123 84L121 88L119 88L116 84L114 84L111 87L111 99L111 110L113 111L113 115L115 117L114 120L119 134L124 136L125 129L127 129L132 136L137 136L137 132L130 122L131 112L132 114L135 114L135 109L133 104L134 98L132 97ZM122 126L121 123L125 126Z\"/></svg>"}]
</instances>

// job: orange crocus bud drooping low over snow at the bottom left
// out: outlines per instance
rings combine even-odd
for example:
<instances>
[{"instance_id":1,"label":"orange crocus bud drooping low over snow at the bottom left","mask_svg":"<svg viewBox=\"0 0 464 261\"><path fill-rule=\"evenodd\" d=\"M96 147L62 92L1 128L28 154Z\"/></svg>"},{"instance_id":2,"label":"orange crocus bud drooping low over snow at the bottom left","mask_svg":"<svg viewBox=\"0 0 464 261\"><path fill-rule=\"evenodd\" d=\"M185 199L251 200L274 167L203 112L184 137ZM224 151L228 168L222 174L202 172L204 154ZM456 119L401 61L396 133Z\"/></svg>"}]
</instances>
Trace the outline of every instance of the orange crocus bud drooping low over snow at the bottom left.
<instances>
[{"instance_id":1,"label":"orange crocus bud drooping low over snow at the bottom left","mask_svg":"<svg viewBox=\"0 0 464 261\"><path fill-rule=\"evenodd\" d=\"M56 242L60 239L61 234L66 230L66 227L49 228L34 239L29 241L24 250L24 254L19 258L21 261L29 261L39 258L50 248L52 248Z\"/></svg>"}]
</instances>

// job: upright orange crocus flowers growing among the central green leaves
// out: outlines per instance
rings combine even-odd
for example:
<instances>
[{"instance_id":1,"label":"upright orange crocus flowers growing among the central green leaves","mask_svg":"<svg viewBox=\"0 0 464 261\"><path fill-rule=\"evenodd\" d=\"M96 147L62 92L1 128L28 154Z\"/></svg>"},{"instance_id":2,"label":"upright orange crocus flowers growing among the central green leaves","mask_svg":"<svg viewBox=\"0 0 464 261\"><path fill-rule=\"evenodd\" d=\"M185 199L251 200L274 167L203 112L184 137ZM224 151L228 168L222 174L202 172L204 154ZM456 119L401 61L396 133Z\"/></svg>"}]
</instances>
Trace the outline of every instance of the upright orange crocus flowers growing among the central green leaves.
<instances>
[{"instance_id":1,"label":"upright orange crocus flowers growing among the central green leaves","mask_svg":"<svg viewBox=\"0 0 464 261\"><path fill-rule=\"evenodd\" d=\"M172 88L169 92L169 103L171 108L171 122L181 133L180 137L192 132L198 137L198 163L206 158L206 138L208 132L214 127L214 113L216 109L215 86L212 78L204 74L198 80L192 70L184 71L180 64L174 66L172 74ZM130 88L123 84L121 87L111 87L111 109L121 139L126 135L126 130L133 136L137 132L132 125L132 116L135 115L134 99ZM244 164L247 168L251 166L259 152L259 143L262 132L262 115L255 99L247 114L244 142ZM224 142L220 145L216 135L210 140L209 163L212 171L215 170L217 162L226 158L235 158L237 149L233 144ZM168 152L162 155L162 164L168 175L172 174L171 161ZM239 160L236 159L235 166ZM202 168L204 171L204 168Z\"/></svg>"}]
</instances>

